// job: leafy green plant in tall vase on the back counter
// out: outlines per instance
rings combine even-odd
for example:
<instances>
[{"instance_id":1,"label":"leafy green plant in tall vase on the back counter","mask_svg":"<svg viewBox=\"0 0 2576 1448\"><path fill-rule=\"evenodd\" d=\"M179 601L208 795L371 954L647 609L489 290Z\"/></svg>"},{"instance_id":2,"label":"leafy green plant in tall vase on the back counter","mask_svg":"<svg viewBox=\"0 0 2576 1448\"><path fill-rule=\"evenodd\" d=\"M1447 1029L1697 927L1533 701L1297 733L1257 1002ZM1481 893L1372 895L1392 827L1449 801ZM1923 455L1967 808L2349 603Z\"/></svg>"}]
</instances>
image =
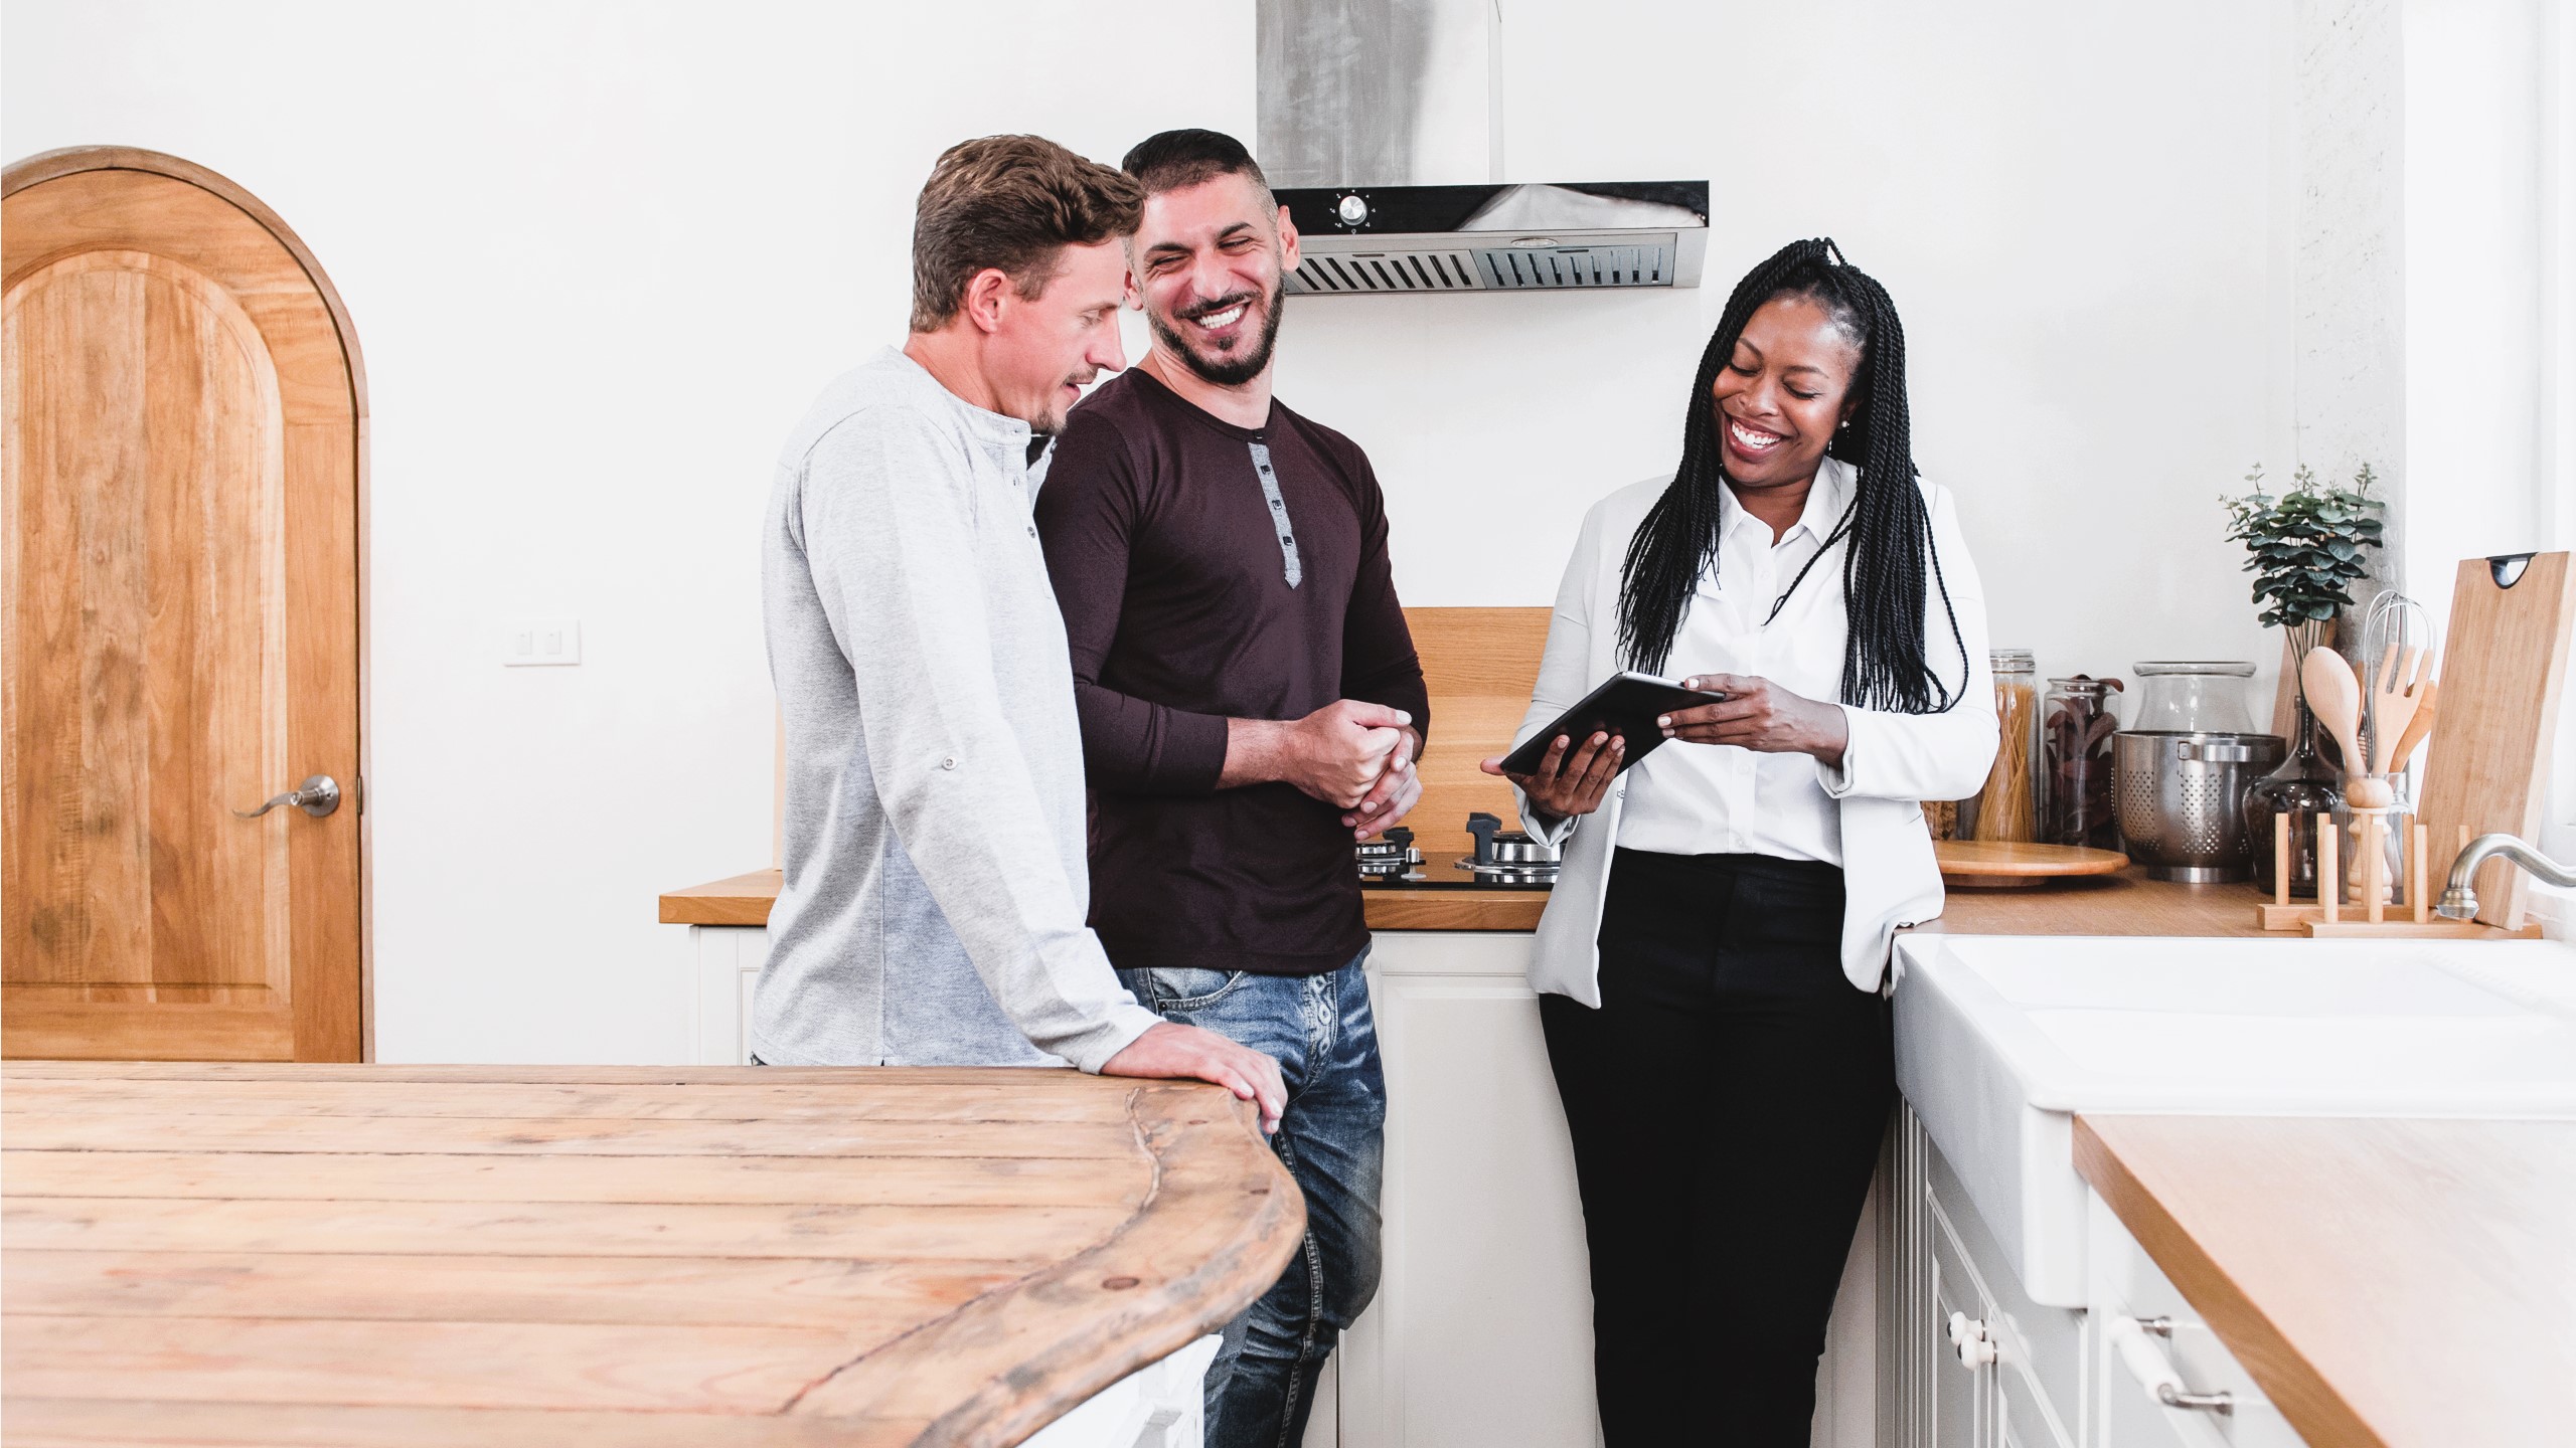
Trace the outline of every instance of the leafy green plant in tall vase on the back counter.
<instances>
[{"instance_id":1,"label":"leafy green plant in tall vase on the back counter","mask_svg":"<svg viewBox=\"0 0 2576 1448\"><path fill-rule=\"evenodd\" d=\"M2347 585L2370 572L2367 554L2385 533L2385 502L2372 497L2378 474L2362 464L2349 487L2321 484L2300 466L2285 492L2262 490L2262 464L2246 474L2251 492L2221 497L2228 510L2228 538L2246 546L2246 572L2254 575L2254 603L2264 626L2290 639L2285 667L2298 678L2308 652L2326 639L2334 616L2352 608ZM2290 757L2246 788L2246 843L2254 848L2254 879L2275 889L2272 830L2290 817L2290 894L2316 899L2316 817L2344 804L2339 770L2316 747L2316 716L2306 688L2298 691L2298 724Z\"/></svg>"}]
</instances>

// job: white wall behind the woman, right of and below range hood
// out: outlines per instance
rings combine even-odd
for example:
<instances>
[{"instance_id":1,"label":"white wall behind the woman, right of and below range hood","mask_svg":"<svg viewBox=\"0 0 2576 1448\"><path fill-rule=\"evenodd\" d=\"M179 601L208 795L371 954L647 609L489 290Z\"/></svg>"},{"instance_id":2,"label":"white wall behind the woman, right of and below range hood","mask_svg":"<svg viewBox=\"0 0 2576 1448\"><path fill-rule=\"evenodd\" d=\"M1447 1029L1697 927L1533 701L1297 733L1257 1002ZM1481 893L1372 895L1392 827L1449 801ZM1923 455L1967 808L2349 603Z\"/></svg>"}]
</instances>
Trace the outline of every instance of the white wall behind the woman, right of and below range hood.
<instances>
[{"instance_id":1,"label":"white wall behind the woman, right of and below range hood","mask_svg":"<svg viewBox=\"0 0 2576 1448\"><path fill-rule=\"evenodd\" d=\"M1832 234L1906 319L1914 438L1996 642L2050 672L2259 644L2218 492L2287 456L2264 5L1504 8L1512 180L1710 178L1708 281L1314 299L1280 389L1370 446L1425 603L1548 603L1602 492L1669 472L1726 291Z\"/></svg>"}]
</instances>

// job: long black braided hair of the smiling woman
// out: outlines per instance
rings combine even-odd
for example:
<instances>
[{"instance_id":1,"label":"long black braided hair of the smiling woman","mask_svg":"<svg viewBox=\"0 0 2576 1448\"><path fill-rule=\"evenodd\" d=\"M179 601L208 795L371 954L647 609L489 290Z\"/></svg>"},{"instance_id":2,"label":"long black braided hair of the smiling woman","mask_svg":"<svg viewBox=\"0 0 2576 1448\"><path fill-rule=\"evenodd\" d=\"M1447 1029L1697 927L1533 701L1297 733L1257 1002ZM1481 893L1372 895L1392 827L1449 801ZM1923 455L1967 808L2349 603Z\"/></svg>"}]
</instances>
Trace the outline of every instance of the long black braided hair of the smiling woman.
<instances>
[{"instance_id":1,"label":"long black braided hair of the smiling woman","mask_svg":"<svg viewBox=\"0 0 2576 1448\"><path fill-rule=\"evenodd\" d=\"M1906 423L1906 330L1896 319L1888 289L1842 260L1832 237L1790 242L1752 268L1726 299L1718 330L1700 353L1700 374L1690 384L1690 412L1682 423L1682 466L1636 536L1618 595L1618 639L1628 667L1664 672L1672 639L1690 608L1692 587L1718 559L1718 497L1726 477L1718 469L1718 417L1710 389L1718 368L1736 356L1744 322L1777 296L1808 296L1860 345L1860 371L1852 379L1850 425L1834 430L1829 456L1860 469L1852 502L1808 559L1842 554L1842 605L1852 642L1842 654L1842 703L1896 714L1940 714L1968 688L1968 644L1950 608L1950 585L1940 577L1932 546L1932 515L1914 482L1914 435ZM1795 593L1806 569L1788 585ZM1958 688L1942 683L1924 660L1924 585L1940 587L1950 636L1960 649ZM1788 603L1788 593L1772 603Z\"/></svg>"}]
</instances>

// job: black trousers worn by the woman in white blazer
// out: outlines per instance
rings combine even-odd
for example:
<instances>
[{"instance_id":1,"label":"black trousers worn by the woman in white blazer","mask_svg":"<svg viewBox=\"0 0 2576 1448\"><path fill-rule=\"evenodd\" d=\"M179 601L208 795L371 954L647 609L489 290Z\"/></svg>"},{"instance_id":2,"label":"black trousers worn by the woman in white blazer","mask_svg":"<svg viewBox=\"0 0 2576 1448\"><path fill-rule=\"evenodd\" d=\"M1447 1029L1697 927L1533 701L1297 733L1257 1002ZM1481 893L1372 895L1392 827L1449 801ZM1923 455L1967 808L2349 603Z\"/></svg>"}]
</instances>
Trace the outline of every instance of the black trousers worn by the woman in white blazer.
<instances>
[{"instance_id":1,"label":"black trousers worn by the woman in white blazer","mask_svg":"<svg viewBox=\"0 0 2576 1448\"><path fill-rule=\"evenodd\" d=\"M1600 1010L1538 997L1610 1448L1808 1443L1896 1098L1886 1002L1839 946L1834 866L1618 850Z\"/></svg>"}]
</instances>

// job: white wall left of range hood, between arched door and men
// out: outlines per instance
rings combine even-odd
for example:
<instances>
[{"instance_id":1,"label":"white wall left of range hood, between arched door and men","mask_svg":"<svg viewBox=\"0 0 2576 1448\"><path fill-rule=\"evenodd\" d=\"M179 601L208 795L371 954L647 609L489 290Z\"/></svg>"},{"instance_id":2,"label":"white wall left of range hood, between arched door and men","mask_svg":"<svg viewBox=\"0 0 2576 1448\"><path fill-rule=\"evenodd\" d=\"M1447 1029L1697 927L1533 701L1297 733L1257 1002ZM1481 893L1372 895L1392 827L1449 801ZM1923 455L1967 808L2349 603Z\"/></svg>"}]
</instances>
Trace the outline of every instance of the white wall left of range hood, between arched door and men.
<instances>
[{"instance_id":1,"label":"white wall left of range hood, between arched door and men","mask_svg":"<svg viewBox=\"0 0 2576 1448\"><path fill-rule=\"evenodd\" d=\"M209 165L355 317L379 1059L685 1059L654 894L770 861L770 461L902 340L930 160L1252 126L1249 5L1074 15L10 3L0 152ZM582 665L497 667L510 613L580 616Z\"/></svg>"}]
</instances>

